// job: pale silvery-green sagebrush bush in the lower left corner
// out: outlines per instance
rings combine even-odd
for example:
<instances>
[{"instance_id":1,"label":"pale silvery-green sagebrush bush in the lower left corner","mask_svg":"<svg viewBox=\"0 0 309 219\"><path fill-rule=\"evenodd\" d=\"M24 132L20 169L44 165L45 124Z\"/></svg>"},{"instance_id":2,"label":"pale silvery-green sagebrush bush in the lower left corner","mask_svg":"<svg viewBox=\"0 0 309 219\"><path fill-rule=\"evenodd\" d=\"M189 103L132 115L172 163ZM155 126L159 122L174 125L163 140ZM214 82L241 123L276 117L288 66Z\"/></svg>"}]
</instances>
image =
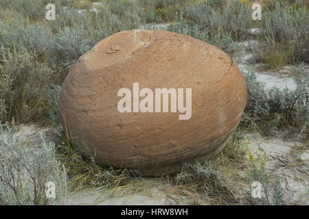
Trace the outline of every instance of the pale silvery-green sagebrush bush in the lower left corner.
<instances>
[{"instance_id":1,"label":"pale silvery-green sagebrush bush in the lower left corner","mask_svg":"<svg viewBox=\"0 0 309 219\"><path fill-rule=\"evenodd\" d=\"M57 205L66 192L66 172L57 162L55 145L38 151L14 136L16 127L0 125L0 205ZM45 183L55 184L56 198L47 198Z\"/></svg>"}]
</instances>

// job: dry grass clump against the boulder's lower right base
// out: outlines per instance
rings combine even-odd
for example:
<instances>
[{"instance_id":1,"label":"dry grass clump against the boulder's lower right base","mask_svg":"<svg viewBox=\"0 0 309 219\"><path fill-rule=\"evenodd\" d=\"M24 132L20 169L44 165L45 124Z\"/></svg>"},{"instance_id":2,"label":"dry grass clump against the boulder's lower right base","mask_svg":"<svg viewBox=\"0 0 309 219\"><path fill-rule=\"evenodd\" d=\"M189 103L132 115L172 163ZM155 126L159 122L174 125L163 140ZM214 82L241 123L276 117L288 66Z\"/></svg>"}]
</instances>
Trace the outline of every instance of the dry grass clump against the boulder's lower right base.
<instances>
[{"instance_id":1,"label":"dry grass clump against the boulder's lower right base","mask_svg":"<svg viewBox=\"0 0 309 219\"><path fill-rule=\"evenodd\" d=\"M213 204L238 205L240 199L235 196L234 181L238 180L236 171L242 168L246 151L243 147L240 129L229 138L227 146L211 161L195 161L183 164L181 170L168 177L170 182L181 189L181 193L190 198L207 198ZM199 203L197 199L197 203Z\"/></svg>"}]
</instances>

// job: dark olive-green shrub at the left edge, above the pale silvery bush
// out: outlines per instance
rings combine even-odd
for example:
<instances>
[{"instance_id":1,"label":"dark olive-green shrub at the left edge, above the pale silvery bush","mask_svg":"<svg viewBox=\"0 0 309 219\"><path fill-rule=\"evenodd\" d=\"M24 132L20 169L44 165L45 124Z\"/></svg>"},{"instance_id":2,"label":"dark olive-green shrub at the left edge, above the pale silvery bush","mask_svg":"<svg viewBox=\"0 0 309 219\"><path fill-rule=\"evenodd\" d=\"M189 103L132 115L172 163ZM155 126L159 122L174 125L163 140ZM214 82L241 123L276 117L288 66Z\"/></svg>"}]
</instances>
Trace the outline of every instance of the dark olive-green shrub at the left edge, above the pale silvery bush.
<instances>
[{"instance_id":1,"label":"dark olive-green shrub at the left edge, above the pale silvery bush","mask_svg":"<svg viewBox=\"0 0 309 219\"><path fill-rule=\"evenodd\" d=\"M26 49L1 49L0 103L2 121L14 118L17 122L45 118L48 107L45 92L52 79L47 64L37 62L36 55Z\"/></svg>"}]
</instances>

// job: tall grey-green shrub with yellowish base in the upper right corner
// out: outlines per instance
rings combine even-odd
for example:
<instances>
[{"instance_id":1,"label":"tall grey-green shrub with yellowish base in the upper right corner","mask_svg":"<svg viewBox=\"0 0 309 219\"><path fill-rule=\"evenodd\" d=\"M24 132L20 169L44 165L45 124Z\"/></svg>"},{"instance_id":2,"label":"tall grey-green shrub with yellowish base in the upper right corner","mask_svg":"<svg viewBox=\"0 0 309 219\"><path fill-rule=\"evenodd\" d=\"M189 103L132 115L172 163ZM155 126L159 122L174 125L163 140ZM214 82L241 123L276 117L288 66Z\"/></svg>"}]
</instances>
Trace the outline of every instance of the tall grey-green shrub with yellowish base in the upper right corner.
<instances>
[{"instance_id":1,"label":"tall grey-green shrub with yellowish base in the upper right corner","mask_svg":"<svg viewBox=\"0 0 309 219\"><path fill-rule=\"evenodd\" d=\"M309 62L308 9L277 3L273 12L264 12L263 16L255 59L271 68Z\"/></svg>"}]
</instances>

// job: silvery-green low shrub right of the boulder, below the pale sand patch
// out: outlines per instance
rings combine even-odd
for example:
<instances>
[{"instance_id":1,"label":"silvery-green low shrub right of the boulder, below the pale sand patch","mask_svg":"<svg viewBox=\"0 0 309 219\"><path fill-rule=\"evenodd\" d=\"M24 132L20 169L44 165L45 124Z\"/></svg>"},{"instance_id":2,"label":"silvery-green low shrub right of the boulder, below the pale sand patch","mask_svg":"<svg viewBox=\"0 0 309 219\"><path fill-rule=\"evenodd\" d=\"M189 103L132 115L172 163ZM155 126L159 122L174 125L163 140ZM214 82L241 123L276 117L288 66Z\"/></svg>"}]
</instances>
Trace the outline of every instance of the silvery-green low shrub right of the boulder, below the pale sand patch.
<instances>
[{"instance_id":1,"label":"silvery-green low shrub right of the boulder, below the pale sand patch","mask_svg":"<svg viewBox=\"0 0 309 219\"><path fill-rule=\"evenodd\" d=\"M244 73L244 78L248 101L242 123L246 127L260 129L266 135L272 135L279 128L287 128L287 136L293 137L299 132L300 138L308 138L309 75L303 64L294 77L295 90L266 90L264 83L258 82L252 72Z\"/></svg>"}]
</instances>

